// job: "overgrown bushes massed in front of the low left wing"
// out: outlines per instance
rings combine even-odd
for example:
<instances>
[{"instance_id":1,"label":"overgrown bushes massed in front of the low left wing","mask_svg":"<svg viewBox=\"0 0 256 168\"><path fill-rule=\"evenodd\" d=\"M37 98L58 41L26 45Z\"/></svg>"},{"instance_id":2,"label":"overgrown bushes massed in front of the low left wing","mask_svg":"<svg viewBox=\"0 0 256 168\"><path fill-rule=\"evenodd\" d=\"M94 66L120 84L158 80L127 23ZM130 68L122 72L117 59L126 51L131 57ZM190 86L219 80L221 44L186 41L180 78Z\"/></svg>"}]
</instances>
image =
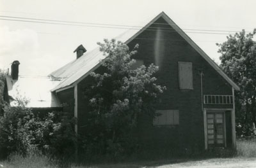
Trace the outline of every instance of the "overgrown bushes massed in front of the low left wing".
<instances>
[{"instance_id":1,"label":"overgrown bushes massed in front of the low left wing","mask_svg":"<svg viewBox=\"0 0 256 168\"><path fill-rule=\"evenodd\" d=\"M38 118L25 106L6 106L0 117L0 147L6 157L40 150L49 157L69 158L76 151L75 120L70 118L63 112Z\"/></svg>"}]
</instances>

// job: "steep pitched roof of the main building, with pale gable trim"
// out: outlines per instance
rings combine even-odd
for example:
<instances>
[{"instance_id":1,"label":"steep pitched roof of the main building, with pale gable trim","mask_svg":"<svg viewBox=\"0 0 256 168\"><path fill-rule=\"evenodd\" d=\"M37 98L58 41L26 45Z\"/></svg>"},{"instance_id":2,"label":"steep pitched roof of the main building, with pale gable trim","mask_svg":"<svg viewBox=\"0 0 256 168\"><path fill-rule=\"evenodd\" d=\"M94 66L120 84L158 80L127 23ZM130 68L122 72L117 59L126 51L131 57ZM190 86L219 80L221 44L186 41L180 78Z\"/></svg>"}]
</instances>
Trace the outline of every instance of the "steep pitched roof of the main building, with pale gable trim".
<instances>
[{"instance_id":1,"label":"steep pitched roof of the main building, with pale gable trim","mask_svg":"<svg viewBox=\"0 0 256 168\"><path fill-rule=\"evenodd\" d=\"M177 31L182 38L184 38L189 45L193 46L195 50L204 57L204 59L221 75L225 80L228 81L228 83L234 87L234 89L239 90L239 87L232 81L230 78L228 78L227 74L223 73L221 71L220 67L198 46L196 43L189 38L189 36L180 29L178 25L176 25L173 20L168 17L164 12L159 13L155 18L153 18L150 22L148 22L147 25L145 25L141 29L129 29L128 31L124 32L123 34L120 34L120 36L117 36L115 39L117 41L122 41L125 44L128 44L132 39L136 38L141 32L145 31L147 27L149 27L151 24L153 24L158 18L163 17L164 20L168 24L170 24L175 31ZM83 56L79 57L79 59L76 59L67 65L61 67L60 69L54 71L51 73L51 76L53 78L61 78L63 81L55 88L52 89L52 91L60 91L65 90L66 88L74 87L79 83L79 81L83 80L88 74L90 74L92 71L97 69L97 67L100 66L100 60L104 59L104 55L102 55L102 52L99 51L99 47L95 48L91 52L84 53Z\"/></svg>"}]
</instances>

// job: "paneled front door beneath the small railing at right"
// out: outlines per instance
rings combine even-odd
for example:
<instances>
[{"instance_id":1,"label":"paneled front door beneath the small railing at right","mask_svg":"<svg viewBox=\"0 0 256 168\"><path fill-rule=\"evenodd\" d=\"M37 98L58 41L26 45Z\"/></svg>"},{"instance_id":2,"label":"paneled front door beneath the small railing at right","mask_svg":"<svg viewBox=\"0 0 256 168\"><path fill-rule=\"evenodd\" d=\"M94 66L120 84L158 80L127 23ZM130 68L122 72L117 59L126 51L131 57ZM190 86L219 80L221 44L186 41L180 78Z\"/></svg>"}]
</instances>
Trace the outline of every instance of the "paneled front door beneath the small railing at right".
<instances>
[{"instance_id":1,"label":"paneled front door beneath the small railing at right","mask_svg":"<svg viewBox=\"0 0 256 168\"><path fill-rule=\"evenodd\" d=\"M225 147L224 113L207 113L207 143L209 148Z\"/></svg>"}]
</instances>

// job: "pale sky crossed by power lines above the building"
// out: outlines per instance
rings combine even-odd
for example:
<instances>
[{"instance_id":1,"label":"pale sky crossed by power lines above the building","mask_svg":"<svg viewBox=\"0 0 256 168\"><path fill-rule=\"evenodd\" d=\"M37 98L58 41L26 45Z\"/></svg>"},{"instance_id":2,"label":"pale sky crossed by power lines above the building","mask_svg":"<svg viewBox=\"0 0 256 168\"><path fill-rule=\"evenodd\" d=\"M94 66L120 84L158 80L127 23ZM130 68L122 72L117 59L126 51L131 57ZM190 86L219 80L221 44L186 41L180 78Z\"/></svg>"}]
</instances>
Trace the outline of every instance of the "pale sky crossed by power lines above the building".
<instances>
[{"instance_id":1,"label":"pale sky crossed by power lines above the building","mask_svg":"<svg viewBox=\"0 0 256 168\"><path fill-rule=\"evenodd\" d=\"M242 29L253 31L255 6L255 0L0 0L0 69L19 60L20 75L47 76L76 59L77 46L93 50L98 41L118 36L127 25L142 26L161 11L220 64L216 43ZM42 24L10 17L89 24Z\"/></svg>"}]
</instances>

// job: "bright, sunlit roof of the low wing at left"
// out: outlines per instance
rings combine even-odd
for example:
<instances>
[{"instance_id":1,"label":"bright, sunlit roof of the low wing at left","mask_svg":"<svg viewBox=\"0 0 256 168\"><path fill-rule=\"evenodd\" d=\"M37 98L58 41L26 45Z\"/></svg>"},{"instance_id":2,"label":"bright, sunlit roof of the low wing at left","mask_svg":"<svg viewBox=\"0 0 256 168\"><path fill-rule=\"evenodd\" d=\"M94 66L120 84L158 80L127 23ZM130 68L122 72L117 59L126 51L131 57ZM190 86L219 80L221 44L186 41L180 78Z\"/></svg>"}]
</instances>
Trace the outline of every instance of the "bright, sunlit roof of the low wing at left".
<instances>
[{"instance_id":1,"label":"bright, sunlit roof of the low wing at left","mask_svg":"<svg viewBox=\"0 0 256 168\"><path fill-rule=\"evenodd\" d=\"M61 107L55 94L51 92L60 81L52 81L51 78L36 76L19 76L19 80L6 77L10 105L17 106L17 99L25 98L29 108Z\"/></svg>"}]
</instances>

